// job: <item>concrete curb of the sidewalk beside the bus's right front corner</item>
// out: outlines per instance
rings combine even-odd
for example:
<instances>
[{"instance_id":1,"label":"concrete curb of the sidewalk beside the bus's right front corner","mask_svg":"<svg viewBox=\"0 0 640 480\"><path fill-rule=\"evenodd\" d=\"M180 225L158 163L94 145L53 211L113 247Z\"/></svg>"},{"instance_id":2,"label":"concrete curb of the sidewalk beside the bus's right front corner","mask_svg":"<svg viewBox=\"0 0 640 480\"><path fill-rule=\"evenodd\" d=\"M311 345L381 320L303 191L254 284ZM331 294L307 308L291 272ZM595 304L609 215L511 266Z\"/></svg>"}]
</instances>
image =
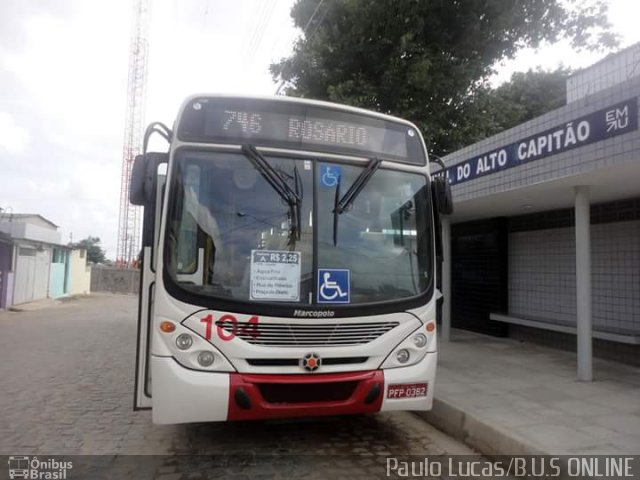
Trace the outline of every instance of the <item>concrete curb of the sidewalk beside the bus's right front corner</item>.
<instances>
[{"instance_id":1,"label":"concrete curb of the sidewalk beside the bus's right front corner","mask_svg":"<svg viewBox=\"0 0 640 480\"><path fill-rule=\"evenodd\" d=\"M434 398L430 411L414 413L484 455L548 454L526 439L506 432L441 398Z\"/></svg>"}]
</instances>

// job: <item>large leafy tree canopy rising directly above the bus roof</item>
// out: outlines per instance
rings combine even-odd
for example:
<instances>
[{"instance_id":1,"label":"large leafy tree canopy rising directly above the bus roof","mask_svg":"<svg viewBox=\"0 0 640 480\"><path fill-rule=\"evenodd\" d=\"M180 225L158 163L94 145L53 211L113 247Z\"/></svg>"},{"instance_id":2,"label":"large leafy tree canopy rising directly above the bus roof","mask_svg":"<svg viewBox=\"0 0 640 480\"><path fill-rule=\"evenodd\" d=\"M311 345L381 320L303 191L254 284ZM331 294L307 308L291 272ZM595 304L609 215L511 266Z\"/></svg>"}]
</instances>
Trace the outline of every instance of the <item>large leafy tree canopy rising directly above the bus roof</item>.
<instances>
[{"instance_id":1,"label":"large leafy tree canopy rising directly above the bus roof","mask_svg":"<svg viewBox=\"0 0 640 480\"><path fill-rule=\"evenodd\" d=\"M560 38L610 48L606 13L604 0L298 0L306 34L271 73L288 95L413 120L445 153L491 121L478 115L497 62Z\"/></svg>"}]
</instances>

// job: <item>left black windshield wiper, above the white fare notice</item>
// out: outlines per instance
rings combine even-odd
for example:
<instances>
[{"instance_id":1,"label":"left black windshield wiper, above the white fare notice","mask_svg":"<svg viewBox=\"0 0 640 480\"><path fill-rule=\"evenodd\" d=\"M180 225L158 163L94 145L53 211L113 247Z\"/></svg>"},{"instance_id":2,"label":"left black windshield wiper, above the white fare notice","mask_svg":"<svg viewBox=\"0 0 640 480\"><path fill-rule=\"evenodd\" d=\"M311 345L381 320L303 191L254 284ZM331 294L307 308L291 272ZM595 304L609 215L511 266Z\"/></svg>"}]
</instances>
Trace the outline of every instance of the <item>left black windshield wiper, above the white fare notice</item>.
<instances>
[{"instance_id":1,"label":"left black windshield wiper, above the white fare notice","mask_svg":"<svg viewBox=\"0 0 640 480\"><path fill-rule=\"evenodd\" d=\"M291 232L289 243L292 239L300 240L301 219L300 204L302 203L302 188L298 168L294 167L295 190L292 189L282 175L271 166L253 145L243 145L242 153L249 159L256 170L262 175L269 185L276 191L280 198L289 205L291 215ZM299 186L300 185L300 186Z\"/></svg>"}]
</instances>

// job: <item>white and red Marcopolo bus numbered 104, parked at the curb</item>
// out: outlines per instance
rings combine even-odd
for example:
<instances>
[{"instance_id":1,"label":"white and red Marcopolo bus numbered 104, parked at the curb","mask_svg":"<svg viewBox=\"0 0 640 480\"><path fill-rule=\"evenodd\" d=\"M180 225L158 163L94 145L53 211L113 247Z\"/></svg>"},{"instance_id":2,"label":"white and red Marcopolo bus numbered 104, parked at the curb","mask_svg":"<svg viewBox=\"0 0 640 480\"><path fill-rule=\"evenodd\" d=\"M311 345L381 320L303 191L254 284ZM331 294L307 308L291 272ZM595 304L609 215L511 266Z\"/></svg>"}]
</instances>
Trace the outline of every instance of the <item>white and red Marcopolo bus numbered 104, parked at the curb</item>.
<instances>
[{"instance_id":1,"label":"white and red Marcopolo bus numbered 104, parked at the curb","mask_svg":"<svg viewBox=\"0 0 640 480\"><path fill-rule=\"evenodd\" d=\"M448 183L418 129L325 102L197 95L144 206L134 408L154 423L428 410Z\"/></svg>"}]
</instances>

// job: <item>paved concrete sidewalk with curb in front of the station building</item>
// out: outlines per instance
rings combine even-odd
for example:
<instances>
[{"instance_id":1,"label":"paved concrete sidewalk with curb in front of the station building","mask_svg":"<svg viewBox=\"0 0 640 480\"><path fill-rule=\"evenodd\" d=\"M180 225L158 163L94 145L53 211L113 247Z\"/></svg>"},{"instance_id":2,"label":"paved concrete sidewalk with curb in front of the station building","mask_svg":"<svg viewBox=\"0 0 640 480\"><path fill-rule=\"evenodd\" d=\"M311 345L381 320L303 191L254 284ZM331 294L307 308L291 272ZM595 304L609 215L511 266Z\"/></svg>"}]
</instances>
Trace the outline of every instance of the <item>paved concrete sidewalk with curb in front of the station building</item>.
<instances>
[{"instance_id":1,"label":"paved concrete sidewalk with curb in front of the station building","mask_svg":"<svg viewBox=\"0 0 640 480\"><path fill-rule=\"evenodd\" d=\"M640 454L640 368L461 330L439 344L436 427L488 455Z\"/></svg>"}]
</instances>

